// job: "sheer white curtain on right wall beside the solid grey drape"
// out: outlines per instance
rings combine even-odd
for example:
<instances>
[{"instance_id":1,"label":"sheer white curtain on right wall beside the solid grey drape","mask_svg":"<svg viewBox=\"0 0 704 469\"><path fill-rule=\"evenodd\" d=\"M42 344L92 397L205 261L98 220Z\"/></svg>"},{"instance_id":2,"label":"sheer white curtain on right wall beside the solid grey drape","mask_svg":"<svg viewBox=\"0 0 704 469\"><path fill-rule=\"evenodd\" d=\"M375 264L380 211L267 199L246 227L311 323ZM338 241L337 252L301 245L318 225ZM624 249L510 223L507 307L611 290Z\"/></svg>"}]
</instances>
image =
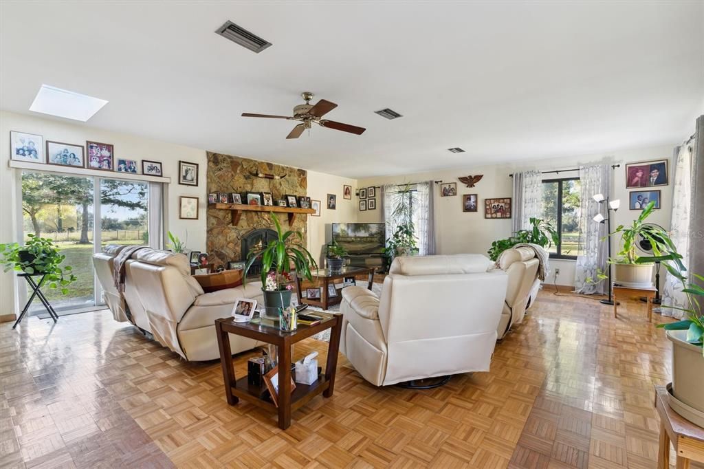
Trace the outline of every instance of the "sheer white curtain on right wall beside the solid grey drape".
<instances>
[{"instance_id":1,"label":"sheer white curtain on right wall beside the solid grey drape","mask_svg":"<svg viewBox=\"0 0 704 469\"><path fill-rule=\"evenodd\" d=\"M689 268L689 232L692 194L692 154L694 142L684 142L677 148L674 161L674 189L672 192L672 219L670 239L682 256L682 263ZM663 269L665 270L665 269ZM662 306L686 308L687 295L682 292L682 284L669 272L665 275L665 289L662 292ZM662 315L681 319L684 312L672 308L661 308Z\"/></svg>"}]
</instances>

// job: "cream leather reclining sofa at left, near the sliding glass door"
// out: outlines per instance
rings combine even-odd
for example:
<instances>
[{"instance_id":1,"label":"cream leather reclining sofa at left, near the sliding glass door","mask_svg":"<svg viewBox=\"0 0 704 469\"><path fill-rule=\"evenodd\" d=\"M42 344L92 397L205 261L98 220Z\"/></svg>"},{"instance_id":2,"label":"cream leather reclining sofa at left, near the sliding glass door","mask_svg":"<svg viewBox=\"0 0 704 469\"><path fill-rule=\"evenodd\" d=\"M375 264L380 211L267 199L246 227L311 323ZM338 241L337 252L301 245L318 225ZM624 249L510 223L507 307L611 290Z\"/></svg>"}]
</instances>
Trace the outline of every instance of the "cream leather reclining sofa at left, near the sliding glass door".
<instances>
[{"instance_id":1,"label":"cream leather reclining sofa at left, near the sliding glass door","mask_svg":"<svg viewBox=\"0 0 704 469\"><path fill-rule=\"evenodd\" d=\"M113 259L111 254L93 255L106 304L115 320L130 322L153 334L157 342L189 361L220 358L215 319L230 316L237 298L263 303L261 282L204 293L191 277L184 254L155 249L141 249L127 261L125 292L120 295L113 282ZM125 303L132 320L127 316ZM253 339L230 334L233 354L257 345Z\"/></svg>"}]
</instances>

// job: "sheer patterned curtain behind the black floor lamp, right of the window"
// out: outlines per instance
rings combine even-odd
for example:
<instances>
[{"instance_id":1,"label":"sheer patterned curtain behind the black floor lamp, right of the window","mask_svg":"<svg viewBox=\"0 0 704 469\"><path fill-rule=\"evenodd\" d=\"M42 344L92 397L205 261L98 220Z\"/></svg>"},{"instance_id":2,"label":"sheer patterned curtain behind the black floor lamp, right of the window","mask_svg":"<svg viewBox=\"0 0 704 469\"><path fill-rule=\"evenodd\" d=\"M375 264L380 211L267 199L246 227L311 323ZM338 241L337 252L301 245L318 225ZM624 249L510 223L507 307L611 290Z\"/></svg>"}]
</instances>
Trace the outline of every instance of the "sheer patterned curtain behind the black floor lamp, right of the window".
<instances>
[{"instance_id":1,"label":"sheer patterned curtain behind the black floor lamp, right of the window","mask_svg":"<svg viewBox=\"0 0 704 469\"><path fill-rule=\"evenodd\" d=\"M611 187L611 168L609 165L580 166L579 179L582 183L582 198L579 206L579 251L577 263L574 265L574 291L582 294L607 293L607 282L591 284L586 280L591 277L597 280L597 269L605 271L608 268L608 235L606 223L596 223L592 220L597 213L609 214L606 204L594 201L595 194L603 194L608 198Z\"/></svg>"}]
</instances>

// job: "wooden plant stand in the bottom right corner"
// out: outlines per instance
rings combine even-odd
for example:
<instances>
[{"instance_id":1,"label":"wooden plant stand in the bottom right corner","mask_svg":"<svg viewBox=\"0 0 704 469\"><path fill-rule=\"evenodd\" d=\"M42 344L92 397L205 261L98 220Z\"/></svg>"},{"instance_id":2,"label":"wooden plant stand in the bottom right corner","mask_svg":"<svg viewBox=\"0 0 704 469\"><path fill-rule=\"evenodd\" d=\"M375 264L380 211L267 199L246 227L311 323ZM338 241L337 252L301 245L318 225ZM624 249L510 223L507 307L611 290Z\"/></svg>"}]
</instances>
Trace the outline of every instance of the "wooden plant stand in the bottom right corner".
<instances>
[{"instance_id":1,"label":"wooden plant stand in the bottom right corner","mask_svg":"<svg viewBox=\"0 0 704 469\"><path fill-rule=\"evenodd\" d=\"M655 386L655 410L660 415L658 469L670 468L670 442L677 451L677 469L689 469L689 461L704 463L704 428L682 418L669 402L665 386Z\"/></svg>"}]
</instances>

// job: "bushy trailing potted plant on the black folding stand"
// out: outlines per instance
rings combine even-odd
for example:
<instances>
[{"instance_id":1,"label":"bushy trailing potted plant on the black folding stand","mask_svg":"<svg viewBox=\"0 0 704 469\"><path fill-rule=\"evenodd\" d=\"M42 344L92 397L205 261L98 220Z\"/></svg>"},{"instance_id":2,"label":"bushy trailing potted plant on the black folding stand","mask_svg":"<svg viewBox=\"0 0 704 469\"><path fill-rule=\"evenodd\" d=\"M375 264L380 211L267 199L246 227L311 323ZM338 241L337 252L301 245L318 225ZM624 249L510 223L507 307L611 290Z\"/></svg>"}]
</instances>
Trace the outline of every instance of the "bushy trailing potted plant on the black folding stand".
<instances>
[{"instance_id":1,"label":"bushy trailing potted plant on the black folding stand","mask_svg":"<svg viewBox=\"0 0 704 469\"><path fill-rule=\"evenodd\" d=\"M18 270L27 274L46 275L45 283L49 288L59 289L61 294L68 294L68 286L75 282L73 268L61 265L66 256L59 252L58 246L49 238L27 235L24 245L18 243L0 244L0 265L5 272Z\"/></svg>"}]
</instances>

